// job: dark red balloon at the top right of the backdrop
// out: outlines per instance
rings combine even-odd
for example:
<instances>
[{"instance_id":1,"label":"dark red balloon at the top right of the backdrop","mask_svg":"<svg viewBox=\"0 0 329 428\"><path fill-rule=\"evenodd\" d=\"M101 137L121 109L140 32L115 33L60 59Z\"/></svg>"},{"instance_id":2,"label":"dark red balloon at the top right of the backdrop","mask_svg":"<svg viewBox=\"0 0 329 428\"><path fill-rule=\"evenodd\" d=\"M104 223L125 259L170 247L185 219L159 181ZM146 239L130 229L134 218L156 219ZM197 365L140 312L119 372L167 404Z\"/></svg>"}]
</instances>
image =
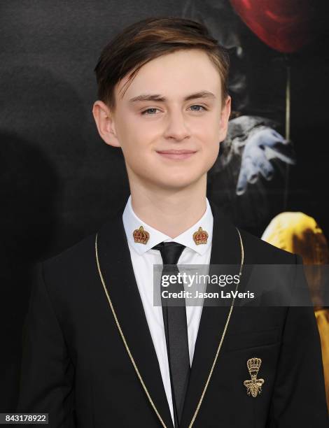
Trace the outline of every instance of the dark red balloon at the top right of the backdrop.
<instances>
[{"instance_id":1,"label":"dark red balloon at the top right of the backdrop","mask_svg":"<svg viewBox=\"0 0 329 428\"><path fill-rule=\"evenodd\" d=\"M295 52L311 39L311 0L230 0L248 27L279 52Z\"/></svg>"}]
</instances>

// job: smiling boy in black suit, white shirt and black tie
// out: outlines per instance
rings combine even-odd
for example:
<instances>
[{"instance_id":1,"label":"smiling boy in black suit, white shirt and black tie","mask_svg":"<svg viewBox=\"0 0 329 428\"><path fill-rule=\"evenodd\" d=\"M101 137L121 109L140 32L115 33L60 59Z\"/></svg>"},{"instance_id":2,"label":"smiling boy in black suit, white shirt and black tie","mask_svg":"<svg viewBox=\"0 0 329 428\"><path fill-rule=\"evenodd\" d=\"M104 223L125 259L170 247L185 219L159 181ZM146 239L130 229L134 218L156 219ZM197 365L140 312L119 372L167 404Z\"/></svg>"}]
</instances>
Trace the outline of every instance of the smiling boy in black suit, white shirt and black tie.
<instances>
[{"instance_id":1,"label":"smiling boy in black suit, white shirt and black tie","mask_svg":"<svg viewBox=\"0 0 329 428\"><path fill-rule=\"evenodd\" d=\"M131 195L40 264L17 411L58 428L327 427L311 307L153 304L154 264L301 263L206 197L230 117L227 54L197 22L147 19L96 73L94 119L123 150Z\"/></svg>"}]
</instances>

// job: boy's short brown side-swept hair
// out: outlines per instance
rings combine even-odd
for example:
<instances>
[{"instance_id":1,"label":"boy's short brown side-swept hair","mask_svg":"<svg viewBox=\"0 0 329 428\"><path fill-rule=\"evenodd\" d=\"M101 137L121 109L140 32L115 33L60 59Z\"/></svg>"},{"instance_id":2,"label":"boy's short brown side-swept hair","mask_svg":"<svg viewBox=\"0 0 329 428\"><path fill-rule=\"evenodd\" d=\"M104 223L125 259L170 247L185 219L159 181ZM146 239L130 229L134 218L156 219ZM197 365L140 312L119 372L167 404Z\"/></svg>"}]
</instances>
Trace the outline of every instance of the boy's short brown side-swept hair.
<instances>
[{"instance_id":1,"label":"boy's short brown side-swept hair","mask_svg":"<svg viewBox=\"0 0 329 428\"><path fill-rule=\"evenodd\" d=\"M131 75L127 83L152 59L188 49L204 50L218 69L223 108L228 97L228 51L203 24L180 17L149 17L135 22L105 46L94 68L99 99L114 110L114 87L128 73Z\"/></svg>"}]
</instances>

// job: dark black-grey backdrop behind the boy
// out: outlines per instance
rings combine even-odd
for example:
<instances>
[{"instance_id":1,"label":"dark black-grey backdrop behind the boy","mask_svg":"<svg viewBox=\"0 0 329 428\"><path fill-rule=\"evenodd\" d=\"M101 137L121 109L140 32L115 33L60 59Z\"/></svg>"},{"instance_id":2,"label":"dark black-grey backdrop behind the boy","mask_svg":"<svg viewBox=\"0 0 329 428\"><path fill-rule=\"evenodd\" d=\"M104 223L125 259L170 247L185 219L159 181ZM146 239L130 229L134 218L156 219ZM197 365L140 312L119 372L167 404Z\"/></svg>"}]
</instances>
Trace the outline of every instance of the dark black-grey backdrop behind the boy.
<instances>
[{"instance_id":1,"label":"dark black-grey backdrop behind the boy","mask_svg":"<svg viewBox=\"0 0 329 428\"><path fill-rule=\"evenodd\" d=\"M92 117L99 53L128 24L162 15L203 20L230 48L233 109L276 120L281 134L289 62L297 164L288 204L286 183L274 181L276 192L265 183L270 215L257 227L244 223L243 211L233 220L260 236L276 213L302 211L328 238L328 38L317 4L314 40L288 57L262 43L224 0L1 4L1 412L15 410L32 267L96 231L129 196L120 149L101 140Z\"/></svg>"}]
</instances>

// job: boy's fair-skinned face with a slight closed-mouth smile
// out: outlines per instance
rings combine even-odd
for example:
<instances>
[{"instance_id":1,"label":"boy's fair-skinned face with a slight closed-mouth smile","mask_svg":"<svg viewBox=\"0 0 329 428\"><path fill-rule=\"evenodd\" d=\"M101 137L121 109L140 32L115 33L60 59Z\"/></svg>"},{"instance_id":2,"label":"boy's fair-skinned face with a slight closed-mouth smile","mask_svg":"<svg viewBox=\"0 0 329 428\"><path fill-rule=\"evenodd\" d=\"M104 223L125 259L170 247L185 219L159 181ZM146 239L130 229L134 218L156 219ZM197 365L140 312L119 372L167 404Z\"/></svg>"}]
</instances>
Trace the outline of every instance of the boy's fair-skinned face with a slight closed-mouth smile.
<instances>
[{"instance_id":1,"label":"boy's fair-skinned face with a slight closed-mouth smile","mask_svg":"<svg viewBox=\"0 0 329 428\"><path fill-rule=\"evenodd\" d=\"M153 59L122 98L126 81L116 85L115 111L96 101L93 114L104 141L122 148L130 182L179 190L205 178L230 116L230 97L222 110L221 79L207 54L180 50ZM190 153L162 153L168 150Z\"/></svg>"}]
</instances>

